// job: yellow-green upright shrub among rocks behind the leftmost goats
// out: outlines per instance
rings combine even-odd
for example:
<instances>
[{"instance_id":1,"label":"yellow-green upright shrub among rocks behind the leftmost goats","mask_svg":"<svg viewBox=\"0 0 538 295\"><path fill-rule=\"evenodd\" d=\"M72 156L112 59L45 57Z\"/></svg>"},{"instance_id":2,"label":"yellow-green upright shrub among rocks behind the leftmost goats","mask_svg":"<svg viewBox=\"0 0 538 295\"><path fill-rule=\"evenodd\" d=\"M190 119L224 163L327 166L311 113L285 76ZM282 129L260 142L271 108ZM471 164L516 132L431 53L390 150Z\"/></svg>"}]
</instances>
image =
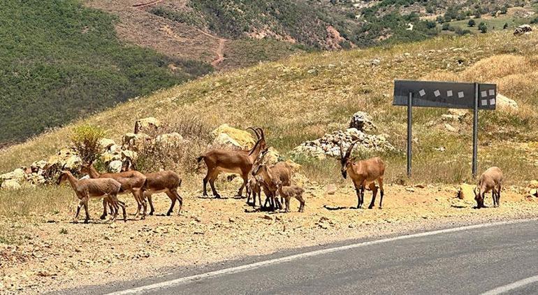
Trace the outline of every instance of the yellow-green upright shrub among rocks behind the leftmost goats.
<instances>
[{"instance_id":1,"label":"yellow-green upright shrub among rocks behind the leftmost goats","mask_svg":"<svg viewBox=\"0 0 538 295\"><path fill-rule=\"evenodd\" d=\"M92 125L81 125L73 129L71 142L82 161L90 162L96 159L100 152L99 141L105 136L105 131Z\"/></svg>"}]
</instances>

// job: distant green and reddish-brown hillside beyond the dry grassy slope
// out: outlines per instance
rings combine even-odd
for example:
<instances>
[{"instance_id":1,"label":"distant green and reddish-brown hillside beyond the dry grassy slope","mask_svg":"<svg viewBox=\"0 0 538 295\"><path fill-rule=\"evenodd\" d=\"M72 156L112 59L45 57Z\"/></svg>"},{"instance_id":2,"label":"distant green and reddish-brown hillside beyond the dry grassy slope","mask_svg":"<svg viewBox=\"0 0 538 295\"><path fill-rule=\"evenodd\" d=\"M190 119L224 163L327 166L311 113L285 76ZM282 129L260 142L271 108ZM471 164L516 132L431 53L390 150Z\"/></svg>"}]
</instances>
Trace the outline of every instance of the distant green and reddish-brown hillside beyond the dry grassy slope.
<instances>
[{"instance_id":1,"label":"distant green and reddish-brown hillside beyond the dry grassy slope","mask_svg":"<svg viewBox=\"0 0 538 295\"><path fill-rule=\"evenodd\" d=\"M535 8L528 1L10 0L0 10L10 24L0 29L0 146L215 69L479 34L465 28L473 15L484 14L490 31L511 29L530 22Z\"/></svg>"}]
</instances>

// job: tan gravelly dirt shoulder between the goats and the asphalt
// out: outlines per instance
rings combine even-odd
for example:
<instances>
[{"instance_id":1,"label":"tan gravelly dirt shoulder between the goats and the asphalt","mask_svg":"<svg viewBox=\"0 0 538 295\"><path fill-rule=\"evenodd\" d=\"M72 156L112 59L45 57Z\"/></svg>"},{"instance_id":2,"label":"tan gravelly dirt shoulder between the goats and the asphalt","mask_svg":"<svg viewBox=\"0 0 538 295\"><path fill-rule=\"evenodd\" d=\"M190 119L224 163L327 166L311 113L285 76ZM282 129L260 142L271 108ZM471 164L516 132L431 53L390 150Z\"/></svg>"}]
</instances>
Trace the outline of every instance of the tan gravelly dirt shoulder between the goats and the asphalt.
<instances>
[{"instance_id":1,"label":"tan gravelly dirt shoulder between the goats and the asphalt","mask_svg":"<svg viewBox=\"0 0 538 295\"><path fill-rule=\"evenodd\" d=\"M201 199L197 193L184 195L182 215L112 226L100 220L73 224L73 212L1 220L0 230L9 240L0 241L0 291L33 294L99 285L155 276L177 266L451 224L535 217L538 212L537 201L516 189L503 192L501 208L481 210L454 199L453 187L388 186L382 210L350 209L356 206L351 186L331 190L321 185L307 189L305 213L256 212L245 199ZM367 192L365 203L370 196ZM123 199L133 213L131 198ZM166 212L166 196L154 201L157 213ZM491 202L488 197L486 204ZM296 210L298 202L291 205ZM93 202L90 210L97 218L101 206Z\"/></svg>"}]
</instances>

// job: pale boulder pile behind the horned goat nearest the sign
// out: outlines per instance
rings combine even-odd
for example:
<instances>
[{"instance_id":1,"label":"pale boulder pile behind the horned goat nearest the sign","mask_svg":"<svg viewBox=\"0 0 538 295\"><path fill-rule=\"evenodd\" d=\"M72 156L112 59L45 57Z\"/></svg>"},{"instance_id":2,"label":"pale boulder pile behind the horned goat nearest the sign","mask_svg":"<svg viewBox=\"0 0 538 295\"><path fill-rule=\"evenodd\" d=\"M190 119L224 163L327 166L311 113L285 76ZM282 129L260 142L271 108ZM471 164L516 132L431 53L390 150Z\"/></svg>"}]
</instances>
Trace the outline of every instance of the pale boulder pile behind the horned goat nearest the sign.
<instances>
[{"instance_id":1,"label":"pale boulder pile behind the horned goat nearest the sign","mask_svg":"<svg viewBox=\"0 0 538 295\"><path fill-rule=\"evenodd\" d=\"M293 149L293 154L303 154L317 159L325 159L327 156L340 157L340 145L345 152L354 141L358 141L356 144L358 149L375 152L395 150L393 145L387 141L386 135L367 134L375 129L375 124L370 120L368 114L358 112L351 117L349 129L335 131L314 141L301 143Z\"/></svg>"}]
</instances>

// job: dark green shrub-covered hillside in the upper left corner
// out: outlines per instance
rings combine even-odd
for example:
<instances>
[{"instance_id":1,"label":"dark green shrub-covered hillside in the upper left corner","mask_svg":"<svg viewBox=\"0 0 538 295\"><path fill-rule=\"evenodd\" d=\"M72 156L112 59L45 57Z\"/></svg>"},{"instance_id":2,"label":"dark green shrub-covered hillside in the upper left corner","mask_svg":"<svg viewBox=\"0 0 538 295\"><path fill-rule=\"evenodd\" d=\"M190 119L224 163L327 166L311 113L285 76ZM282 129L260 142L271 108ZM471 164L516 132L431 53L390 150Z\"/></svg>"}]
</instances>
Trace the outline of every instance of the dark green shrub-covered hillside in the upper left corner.
<instances>
[{"instance_id":1,"label":"dark green shrub-covered hillside in the upper left corner","mask_svg":"<svg viewBox=\"0 0 538 295\"><path fill-rule=\"evenodd\" d=\"M211 70L126 45L114 25L111 15L75 0L2 2L0 144Z\"/></svg>"}]
</instances>

